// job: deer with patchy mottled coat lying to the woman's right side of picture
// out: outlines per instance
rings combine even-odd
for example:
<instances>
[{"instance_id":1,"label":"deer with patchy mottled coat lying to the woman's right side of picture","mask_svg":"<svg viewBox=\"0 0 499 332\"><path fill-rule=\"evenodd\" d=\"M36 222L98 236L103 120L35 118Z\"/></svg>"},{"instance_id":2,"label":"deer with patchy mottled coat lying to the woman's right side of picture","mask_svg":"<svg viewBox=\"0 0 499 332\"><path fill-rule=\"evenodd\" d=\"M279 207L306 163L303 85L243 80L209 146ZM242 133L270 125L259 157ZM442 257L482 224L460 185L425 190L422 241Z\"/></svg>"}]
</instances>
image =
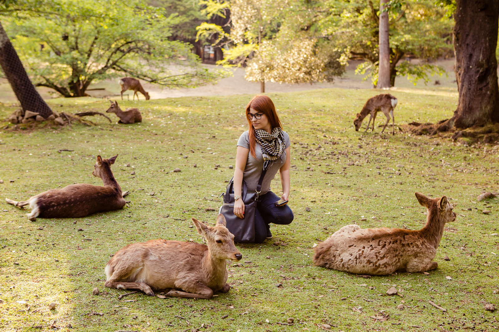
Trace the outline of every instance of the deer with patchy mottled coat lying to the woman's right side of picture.
<instances>
[{"instance_id":1,"label":"deer with patchy mottled coat lying to the woman's right side of picture","mask_svg":"<svg viewBox=\"0 0 499 332\"><path fill-rule=\"evenodd\" d=\"M456 213L446 196L432 199L416 192L416 197L428 209L426 225L422 229L344 226L315 247L315 265L365 275L436 269L438 264L432 260L445 224L454 221Z\"/></svg>"}]
</instances>

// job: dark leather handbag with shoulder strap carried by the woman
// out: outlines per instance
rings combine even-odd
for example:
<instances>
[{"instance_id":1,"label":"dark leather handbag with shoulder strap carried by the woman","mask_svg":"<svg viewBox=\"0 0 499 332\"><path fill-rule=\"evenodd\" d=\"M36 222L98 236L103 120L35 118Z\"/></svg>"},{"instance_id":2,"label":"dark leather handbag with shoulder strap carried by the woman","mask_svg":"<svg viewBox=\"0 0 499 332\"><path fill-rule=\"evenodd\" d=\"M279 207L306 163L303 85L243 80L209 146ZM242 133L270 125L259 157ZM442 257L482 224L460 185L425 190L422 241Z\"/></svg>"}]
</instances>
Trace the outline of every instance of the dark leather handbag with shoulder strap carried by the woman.
<instances>
[{"instance_id":1,"label":"dark leather handbag with shoulder strap carried by the woman","mask_svg":"<svg viewBox=\"0 0 499 332\"><path fill-rule=\"evenodd\" d=\"M258 194L261 191L261 183L267 171L263 170L256 185L256 192L248 192L248 186L243 180L241 198L245 203L244 219L234 214L234 177L227 185L224 195L224 204L220 207L219 213L222 213L227 222L226 227L234 234L235 242L254 242L254 215L256 212L256 202Z\"/></svg>"}]
</instances>

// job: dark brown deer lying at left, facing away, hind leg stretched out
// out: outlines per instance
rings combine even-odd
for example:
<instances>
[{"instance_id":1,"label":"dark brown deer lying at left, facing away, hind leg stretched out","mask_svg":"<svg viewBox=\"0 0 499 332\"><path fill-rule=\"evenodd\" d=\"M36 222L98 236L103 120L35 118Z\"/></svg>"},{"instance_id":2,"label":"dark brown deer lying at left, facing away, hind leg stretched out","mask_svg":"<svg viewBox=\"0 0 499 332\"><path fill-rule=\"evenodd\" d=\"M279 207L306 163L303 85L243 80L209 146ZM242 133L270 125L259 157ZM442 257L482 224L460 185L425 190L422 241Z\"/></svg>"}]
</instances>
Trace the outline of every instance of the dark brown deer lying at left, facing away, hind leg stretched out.
<instances>
[{"instance_id":1,"label":"dark brown deer lying at left, facing away, hind leg stretched out","mask_svg":"<svg viewBox=\"0 0 499 332\"><path fill-rule=\"evenodd\" d=\"M44 191L23 202L5 200L15 206L29 204L31 213L27 214L28 218L81 218L96 212L118 210L125 205L125 200L111 171L116 157L118 155L109 159L97 156L92 174L100 177L104 186L70 184L62 189Z\"/></svg>"}]
</instances>

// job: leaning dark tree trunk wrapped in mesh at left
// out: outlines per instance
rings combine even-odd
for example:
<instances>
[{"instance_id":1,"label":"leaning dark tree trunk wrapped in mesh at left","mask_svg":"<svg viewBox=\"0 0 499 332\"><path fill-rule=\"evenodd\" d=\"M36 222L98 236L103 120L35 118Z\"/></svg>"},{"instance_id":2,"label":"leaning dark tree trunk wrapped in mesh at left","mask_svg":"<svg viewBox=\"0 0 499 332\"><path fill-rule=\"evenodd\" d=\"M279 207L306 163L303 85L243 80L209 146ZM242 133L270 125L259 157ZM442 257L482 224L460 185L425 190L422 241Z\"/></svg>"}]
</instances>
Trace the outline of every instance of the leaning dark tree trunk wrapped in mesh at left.
<instances>
[{"instance_id":1,"label":"leaning dark tree trunk wrapped in mesh at left","mask_svg":"<svg viewBox=\"0 0 499 332\"><path fill-rule=\"evenodd\" d=\"M21 103L23 111L37 112L43 118L52 114L52 110L29 80L19 56L0 22L0 66L8 83Z\"/></svg>"}]
</instances>

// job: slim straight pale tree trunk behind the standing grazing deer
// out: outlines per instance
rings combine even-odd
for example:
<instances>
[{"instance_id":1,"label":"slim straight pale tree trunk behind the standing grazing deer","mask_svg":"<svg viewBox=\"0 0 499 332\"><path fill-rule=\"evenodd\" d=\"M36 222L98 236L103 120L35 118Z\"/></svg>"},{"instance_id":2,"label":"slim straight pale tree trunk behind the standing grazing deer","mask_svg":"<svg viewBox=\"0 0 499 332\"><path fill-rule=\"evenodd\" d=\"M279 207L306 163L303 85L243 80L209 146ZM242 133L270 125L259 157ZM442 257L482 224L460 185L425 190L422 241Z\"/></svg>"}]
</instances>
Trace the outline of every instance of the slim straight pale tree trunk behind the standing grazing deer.
<instances>
[{"instance_id":1,"label":"slim straight pale tree trunk behind the standing grazing deer","mask_svg":"<svg viewBox=\"0 0 499 332\"><path fill-rule=\"evenodd\" d=\"M386 3L380 0L379 6L379 63L378 63L378 89L390 87L390 37L389 22Z\"/></svg>"}]
</instances>

